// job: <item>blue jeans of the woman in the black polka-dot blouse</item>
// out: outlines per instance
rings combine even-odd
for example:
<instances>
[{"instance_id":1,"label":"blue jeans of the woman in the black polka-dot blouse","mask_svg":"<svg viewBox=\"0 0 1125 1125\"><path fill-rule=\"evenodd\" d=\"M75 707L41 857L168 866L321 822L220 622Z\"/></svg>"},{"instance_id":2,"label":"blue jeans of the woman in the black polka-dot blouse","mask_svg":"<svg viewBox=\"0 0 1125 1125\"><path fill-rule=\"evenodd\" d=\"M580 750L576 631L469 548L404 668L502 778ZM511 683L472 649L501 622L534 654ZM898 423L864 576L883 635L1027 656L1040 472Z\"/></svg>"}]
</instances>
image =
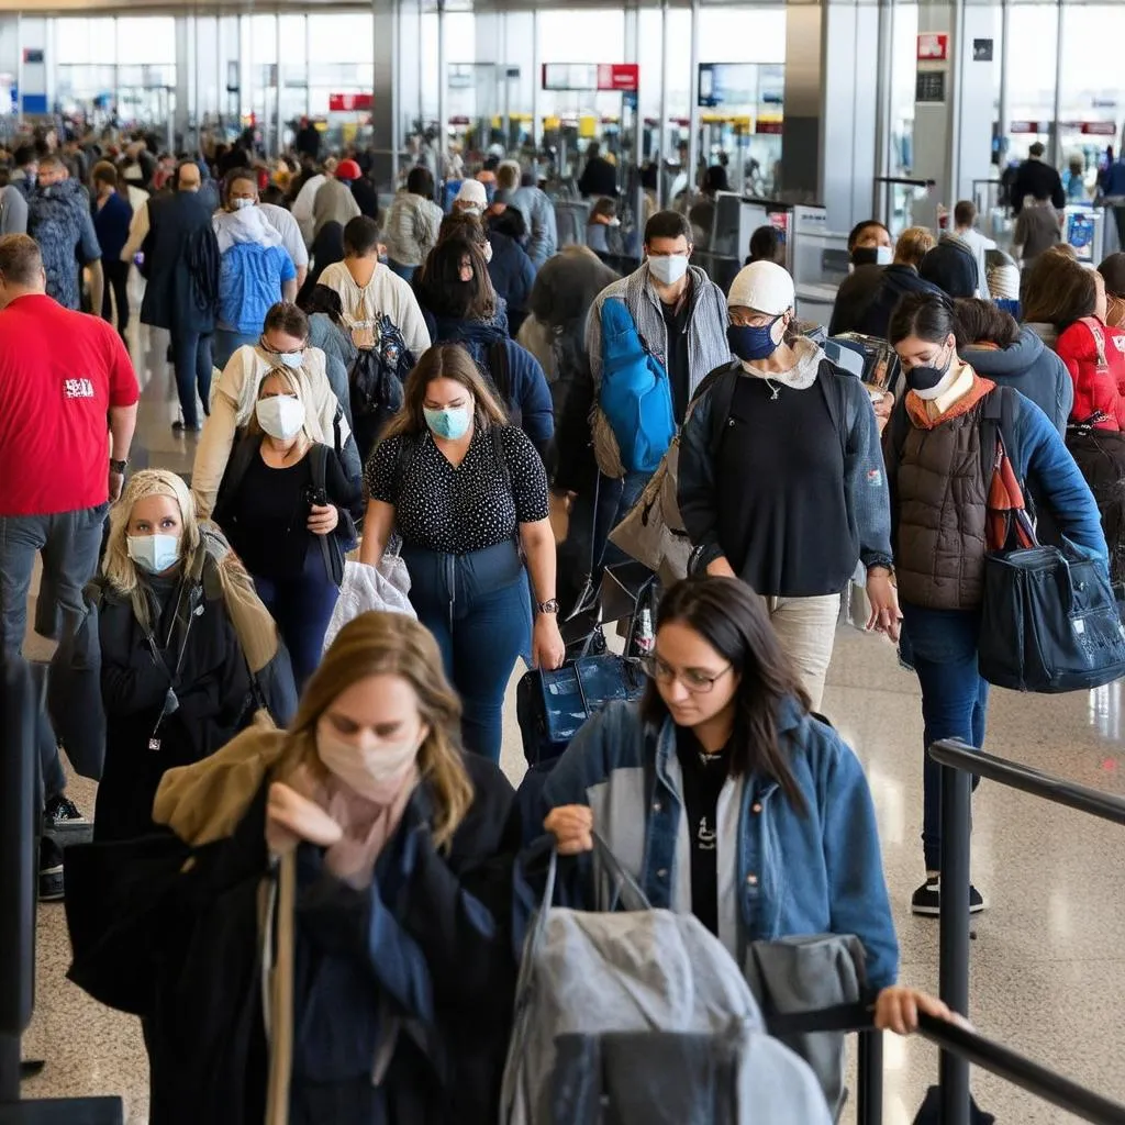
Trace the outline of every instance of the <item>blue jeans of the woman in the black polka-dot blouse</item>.
<instances>
[{"instance_id":1,"label":"blue jeans of the woman in the black polka-dot blouse","mask_svg":"<svg viewBox=\"0 0 1125 1125\"><path fill-rule=\"evenodd\" d=\"M500 762L504 692L531 648L528 574L512 542L469 555L403 547L411 604L461 696L466 750Z\"/></svg>"}]
</instances>

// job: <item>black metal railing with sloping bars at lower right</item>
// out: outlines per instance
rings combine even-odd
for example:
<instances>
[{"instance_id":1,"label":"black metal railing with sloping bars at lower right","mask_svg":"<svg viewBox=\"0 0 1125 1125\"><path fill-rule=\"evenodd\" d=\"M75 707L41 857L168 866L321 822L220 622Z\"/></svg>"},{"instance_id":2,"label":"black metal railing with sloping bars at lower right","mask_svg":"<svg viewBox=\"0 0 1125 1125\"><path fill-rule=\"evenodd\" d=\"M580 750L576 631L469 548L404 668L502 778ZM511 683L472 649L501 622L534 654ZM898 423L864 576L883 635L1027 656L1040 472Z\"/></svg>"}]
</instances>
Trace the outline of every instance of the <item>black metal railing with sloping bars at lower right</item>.
<instances>
[{"instance_id":1,"label":"black metal railing with sloping bars at lower right","mask_svg":"<svg viewBox=\"0 0 1125 1125\"><path fill-rule=\"evenodd\" d=\"M939 992L951 1010L968 1016L971 775L988 777L1052 804L1077 809L1117 825L1125 825L1125 800L981 753L956 740L936 742L929 748L929 755L942 767ZM942 1047L942 1125L969 1125L970 1064L983 1066L1084 1120L1099 1125L1125 1125L1125 1106L1087 1090L1005 1046L989 1043L950 1024L942 1024L937 1029L939 1036L935 1034L933 1020L925 1020L921 1029Z\"/></svg>"}]
</instances>

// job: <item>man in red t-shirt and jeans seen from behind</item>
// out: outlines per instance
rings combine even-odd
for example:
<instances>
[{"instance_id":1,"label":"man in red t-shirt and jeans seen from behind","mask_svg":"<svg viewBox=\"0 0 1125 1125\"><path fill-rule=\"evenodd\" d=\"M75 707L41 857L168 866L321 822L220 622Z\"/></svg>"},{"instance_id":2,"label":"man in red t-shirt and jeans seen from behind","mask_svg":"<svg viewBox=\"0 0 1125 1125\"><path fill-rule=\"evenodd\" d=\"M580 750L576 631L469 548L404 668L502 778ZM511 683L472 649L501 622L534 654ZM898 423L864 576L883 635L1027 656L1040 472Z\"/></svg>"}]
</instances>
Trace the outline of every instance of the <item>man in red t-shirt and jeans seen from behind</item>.
<instances>
[{"instance_id":1,"label":"man in red t-shirt and jeans seen from behind","mask_svg":"<svg viewBox=\"0 0 1125 1125\"><path fill-rule=\"evenodd\" d=\"M54 598L63 629L83 612L109 503L120 495L140 388L129 354L105 321L46 295L39 248L0 237L0 640L18 652L27 630L35 556L40 600ZM51 614L37 628L57 633ZM40 748L48 820L75 819L57 749ZM55 862L57 861L57 862ZM43 898L62 898L62 854L44 843Z\"/></svg>"}]
</instances>

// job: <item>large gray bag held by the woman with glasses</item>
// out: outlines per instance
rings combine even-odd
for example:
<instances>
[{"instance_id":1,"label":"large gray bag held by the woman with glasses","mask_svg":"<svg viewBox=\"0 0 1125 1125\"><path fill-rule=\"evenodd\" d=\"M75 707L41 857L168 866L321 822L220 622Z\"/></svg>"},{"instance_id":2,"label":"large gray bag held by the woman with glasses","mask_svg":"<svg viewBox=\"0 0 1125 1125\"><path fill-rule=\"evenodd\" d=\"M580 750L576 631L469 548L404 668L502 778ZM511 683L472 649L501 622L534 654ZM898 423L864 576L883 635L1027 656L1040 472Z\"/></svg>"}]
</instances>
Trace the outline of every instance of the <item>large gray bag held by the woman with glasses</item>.
<instances>
[{"instance_id":1,"label":"large gray bag held by the woman with glasses","mask_svg":"<svg viewBox=\"0 0 1125 1125\"><path fill-rule=\"evenodd\" d=\"M692 915L654 910L608 847L627 912L551 906L528 934L502 1125L829 1125L808 1065L771 1038L738 965Z\"/></svg>"}]
</instances>

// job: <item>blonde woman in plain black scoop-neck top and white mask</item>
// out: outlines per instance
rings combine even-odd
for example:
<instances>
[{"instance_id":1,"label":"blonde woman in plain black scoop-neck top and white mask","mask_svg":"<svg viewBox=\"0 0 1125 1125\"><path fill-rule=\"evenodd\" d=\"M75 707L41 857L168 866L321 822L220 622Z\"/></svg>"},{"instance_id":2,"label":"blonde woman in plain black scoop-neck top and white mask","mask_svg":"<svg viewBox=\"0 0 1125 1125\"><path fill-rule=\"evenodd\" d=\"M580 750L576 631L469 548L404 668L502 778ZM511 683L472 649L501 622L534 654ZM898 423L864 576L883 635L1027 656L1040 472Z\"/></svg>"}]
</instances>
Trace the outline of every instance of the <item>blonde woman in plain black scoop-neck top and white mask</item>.
<instances>
[{"instance_id":1,"label":"blonde woman in plain black scoop-neck top and white mask","mask_svg":"<svg viewBox=\"0 0 1125 1125\"><path fill-rule=\"evenodd\" d=\"M298 690L321 663L359 502L335 451L308 435L297 376L272 371L227 465L214 520L278 623Z\"/></svg>"}]
</instances>

